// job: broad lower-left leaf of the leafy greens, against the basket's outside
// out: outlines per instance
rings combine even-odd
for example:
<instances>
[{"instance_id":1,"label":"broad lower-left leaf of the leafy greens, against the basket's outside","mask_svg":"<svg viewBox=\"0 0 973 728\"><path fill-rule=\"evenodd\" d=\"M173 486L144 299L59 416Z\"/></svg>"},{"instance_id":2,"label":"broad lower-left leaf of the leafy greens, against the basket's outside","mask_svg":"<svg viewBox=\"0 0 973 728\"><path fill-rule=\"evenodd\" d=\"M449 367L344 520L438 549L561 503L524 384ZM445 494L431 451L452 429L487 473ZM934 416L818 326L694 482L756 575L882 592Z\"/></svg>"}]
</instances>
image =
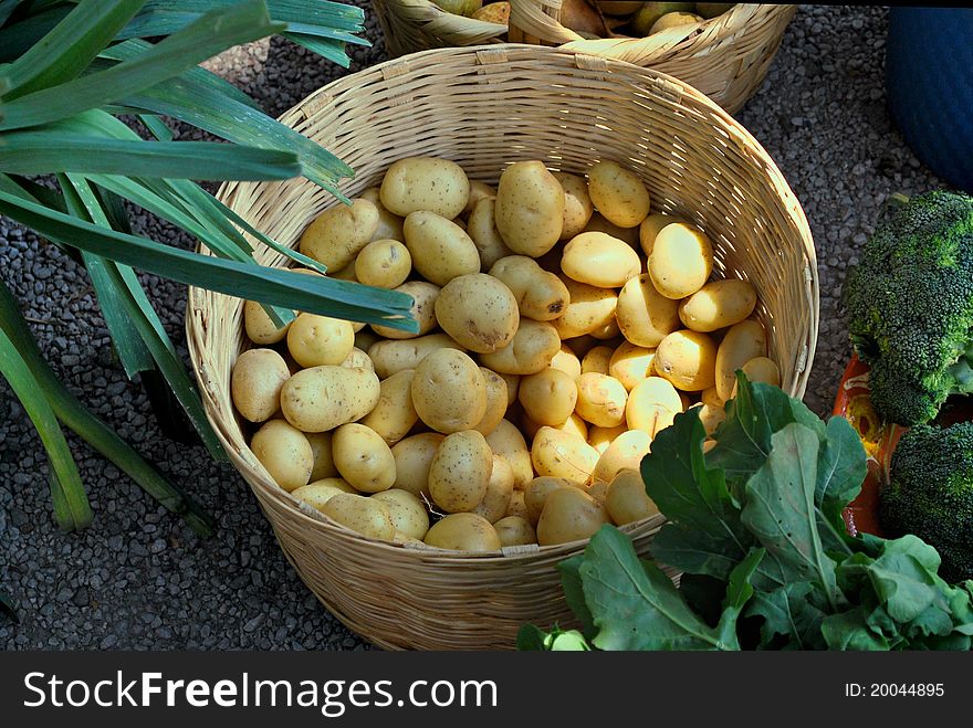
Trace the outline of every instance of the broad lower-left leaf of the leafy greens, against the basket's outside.
<instances>
[{"instance_id":1,"label":"broad lower-left leaf of the leafy greens, against the basket's outside","mask_svg":"<svg viewBox=\"0 0 973 728\"><path fill-rule=\"evenodd\" d=\"M658 567L640 561L631 541L603 526L579 569L600 650L725 650Z\"/></svg>"}]
</instances>

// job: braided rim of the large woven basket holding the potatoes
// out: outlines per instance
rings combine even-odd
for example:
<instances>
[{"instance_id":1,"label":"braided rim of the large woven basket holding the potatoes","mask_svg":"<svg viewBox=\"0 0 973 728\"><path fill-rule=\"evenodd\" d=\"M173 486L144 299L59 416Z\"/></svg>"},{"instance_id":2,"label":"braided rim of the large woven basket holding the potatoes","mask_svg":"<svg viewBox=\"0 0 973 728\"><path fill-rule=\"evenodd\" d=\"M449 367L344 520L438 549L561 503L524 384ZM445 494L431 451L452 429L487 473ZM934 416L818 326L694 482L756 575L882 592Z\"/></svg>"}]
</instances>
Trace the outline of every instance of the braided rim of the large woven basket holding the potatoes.
<instances>
[{"instance_id":1,"label":"braided rim of the large woven basket holding the potatoes","mask_svg":"<svg viewBox=\"0 0 973 728\"><path fill-rule=\"evenodd\" d=\"M428 0L419 1L428 2ZM801 372L795 377L795 382L792 387L792 390L796 392L796 395L803 395L804 390L807 386L807 379L810 372L810 365L814 361L819 324L819 285L817 267L814 264L816 262L816 250L814 246L814 241L812 238L812 232L807 222L807 218L799 201L797 200L796 194L794 194L780 168L774 162L773 158L766 152L763 146L757 141L757 139L753 137L750 131L747 131L736 119L734 119L729 112L723 109L719 104L710 99L705 94L699 92L688 83L651 67L645 67L611 57L593 55L589 53L566 49L564 46L542 46L530 43L503 43L438 48L420 51L398 59L391 59L364 68L357 73L348 74L341 78L337 78L322 86L315 92L308 94L304 99L297 102L293 107L281 114L278 119L284 124L287 124L289 126L293 125L294 123L304 120L307 117L307 114L305 112L305 109L307 108L320 109L323 106L333 103L341 94L345 93L346 91L351 89L360 92L363 88L367 88L367 85L363 85L360 83L360 77L365 74L377 74L378 77L387 78L399 75L399 73L397 73L397 70L404 66L427 67L429 61L436 57L475 55L478 59L478 63L489 64L491 62L495 62L493 61L493 59L498 59L499 56L504 56L505 59L510 54L516 55L516 60L519 62L529 61L543 63L545 56L568 56L573 57L576 64L585 68L595 67L598 70L604 68L610 71L613 70L613 67L617 67L626 73L640 75L642 77L644 84L656 84L661 86L662 88L667 88L669 91L678 93L681 97L692 97L698 103L708 107L708 110L712 115L719 117L728 127L728 130L732 130L732 140L744 147L752 148L754 152L762 158L762 161L766 165L768 170L776 172L776 178L780 183L774 188L774 193L777 197L789 199L789 201L793 202L793 204L787 207L787 213L794 218L794 222L802 233L801 238L804 244L804 252L807 255L808 261L810 262L809 271L806 271L806 275L809 276L806 281L806 284L809 293L812 294L810 300L805 300L805 303L808 304L810 308L810 326L808 331L807 350L805 365ZM311 184L312 182L308 181L307 183ZM218 199L223 200L224 203L227 203L228 205L232 207L233 197L240 189L241 188L237 182L223 182L217 192L217 197ZM205 246L198 246L198 249L200 249L200 251L206 254L211 254L211 252L209 252ZM206 295L206 293L207 292L198 289L196 287L189 288L186 315L186 333L193 372L200 386L201 394L203 395L203 404L207 413L207 419L212 424L213 430L216 431L217 436L220 440L220 443L229 453L234 468L241 474L244 481L247 481L250 487L259 489L265 497L285 503L287 505L290 517L300 519L303 524L313 528L315 531L321 532L325 537L338 538L344 541L354 541L356 547L360 545L362 548L377 548L379 550L385 550L386 552L395 553L411 551L426 559L436 559L443 562L452 563L464 562L472 565L481 562L503 562L515 565L516 562L530 561L537 558L550 559L562 555L567 556L569 553L578 552L580 547L589 540L580 539L577 541L559 544L555 546L537 546L536 548L530 548L527 550L520 550L519 548L514 547L514 549L510 551L501 550L490 552L454 551L447 549L437 549L433 547L418 548L360 535L342 526L341 524L337 524L324 514L312 509L310 506L306 506L297 498L292 496L290 493L286 493L275 483L273 483L265 471L261 473L263 468L262 466L259 466L259 468L253 468L251 466L251 463L247 463L234 451L233 445L231 445L227 435L224 434L224 423L213 414L212 410L215 408L211 405L208 399L210 394L210 389L202 371L202 369L205 368L200 366L199 340L195 334L195 329L197 327L206 327L206 323L202 320L202 317L197 317L195 315L196 312L201 312L200 306L198 306L198 300L200 296ZM233 298L232 296L223 297ZM240 300L239 305L242 306L242 300ZM239 428L239 422L234 421L233 426ZM249 445L247 445L247 451L249 452ZM250 454L252 455L252 452ZM255 456L253 456L253 461L257 462ZM661 526L663 523L666 523L666 519L662 516L652 516L648 519L642 519L640 521L622 526L620 527L620 529L629 534L634 531L653 531L657 530L658 527Z\"/></svg>"}]
</instances>

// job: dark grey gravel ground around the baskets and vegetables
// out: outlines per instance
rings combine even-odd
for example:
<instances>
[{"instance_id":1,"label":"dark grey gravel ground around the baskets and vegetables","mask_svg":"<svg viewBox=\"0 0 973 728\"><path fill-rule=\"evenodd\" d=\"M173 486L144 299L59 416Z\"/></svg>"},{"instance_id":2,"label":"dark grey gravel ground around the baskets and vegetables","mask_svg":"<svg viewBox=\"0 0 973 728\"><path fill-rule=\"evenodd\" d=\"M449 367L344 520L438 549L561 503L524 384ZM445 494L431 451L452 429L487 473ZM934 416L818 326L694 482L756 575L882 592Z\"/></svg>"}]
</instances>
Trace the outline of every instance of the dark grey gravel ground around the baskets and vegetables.
<instances>
[{"instance_id":1,"label":"dark grey gravel ground around the baskets and vegetables","mask_svg":"<svg viewBox=\"0 0 973 728\"><path fill-rule=\"evenodd\" d=\"M369 14L370 49L352 71L385 59ZM764 145L804 207L818 252L820 339L806 401L830 409L849 347L838 310L846 266L890 192L938 187L891 128L882 86L881 8L802 7L740 120ZM281 39L236 49L210 66L272 115L344 73ZM140 232L188 245L146 215ZM94 412L217 515L200 541L126 477L71 437L95 513L80 535L53 524L46 461L22 408L0 381L0 591L20 624L0 615L0 646L25 648L357 650L297 579L243 481L158 431L140 387L113 359L83 271L0 218L0 276L23 302L48 360ZM159 315L185 347L182 286L145 276ZM188 358L187 358L188 361Z\"/></svg>"}]
</instances>

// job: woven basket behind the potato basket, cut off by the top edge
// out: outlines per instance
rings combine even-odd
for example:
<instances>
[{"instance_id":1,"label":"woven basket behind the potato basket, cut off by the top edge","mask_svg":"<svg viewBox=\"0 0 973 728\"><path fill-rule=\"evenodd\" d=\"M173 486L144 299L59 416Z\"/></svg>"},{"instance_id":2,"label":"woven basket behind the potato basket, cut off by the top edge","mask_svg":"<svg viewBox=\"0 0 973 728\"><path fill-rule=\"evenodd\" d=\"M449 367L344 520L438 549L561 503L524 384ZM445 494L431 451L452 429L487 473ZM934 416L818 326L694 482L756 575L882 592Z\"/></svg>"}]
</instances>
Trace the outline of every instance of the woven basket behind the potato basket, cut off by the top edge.
<instances>
[{"instance_id":1,"label":"woven basket behind the potato basket, cut off by the top edge","mask_svg":"<svg viewBox=\"0 0 973 728\"><path fill-rule=\"evenodd\" d=\"M454 15L430 0L372 0L391 56L481 43L562 45L655 68L695 86L731 114L763 83L797 6L736 4L700 25L648 38L585 40L562 25L562 0L511 0L505 25Z\"/></svg>"}]
</instances>

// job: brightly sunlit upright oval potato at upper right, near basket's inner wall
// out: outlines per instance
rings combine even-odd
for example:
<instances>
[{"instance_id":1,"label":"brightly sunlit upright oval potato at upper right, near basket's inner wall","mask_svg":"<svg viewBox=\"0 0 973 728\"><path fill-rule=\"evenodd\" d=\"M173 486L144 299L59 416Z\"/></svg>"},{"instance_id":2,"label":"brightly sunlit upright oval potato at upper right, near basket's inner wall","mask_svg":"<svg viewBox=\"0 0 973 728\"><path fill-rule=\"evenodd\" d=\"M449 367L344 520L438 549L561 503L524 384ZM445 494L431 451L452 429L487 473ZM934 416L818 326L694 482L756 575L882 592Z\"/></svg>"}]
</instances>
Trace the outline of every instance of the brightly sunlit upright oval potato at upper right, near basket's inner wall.
<instances>
[{"instance_id":1,"label":"brightly sunlit upright oval potato at upper right, near basket's inner wall","mask_svg":"<svg viewBox=\"0 0 973 728\"><path fill-rule=\"evenodd\" d=\"M713 272L713 245L691 225L673 222L656 235L649 275L656 291L678 300L703 287Z\"/></svg>"}]
</instances>

